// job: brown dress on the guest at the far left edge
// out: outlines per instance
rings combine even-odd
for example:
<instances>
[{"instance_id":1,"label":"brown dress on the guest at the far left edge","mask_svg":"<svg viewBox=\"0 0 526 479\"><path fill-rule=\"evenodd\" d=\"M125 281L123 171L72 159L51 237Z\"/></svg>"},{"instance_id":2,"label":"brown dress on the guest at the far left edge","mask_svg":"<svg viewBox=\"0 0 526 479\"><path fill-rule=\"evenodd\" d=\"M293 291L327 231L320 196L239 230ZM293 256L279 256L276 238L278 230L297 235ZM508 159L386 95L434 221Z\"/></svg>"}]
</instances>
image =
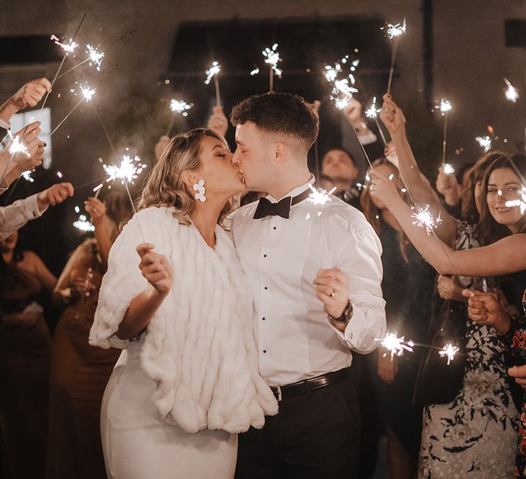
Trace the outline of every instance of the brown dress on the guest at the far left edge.
<instances>
[{"instance_id":1,"label":"brown dress on the guest at the far left edge","mask_svg":"<svg viewBox=\"0 0 526 479\"><path fill-rule=\"evenodd\" d=\"M42 286L36 276L19 268L16 262L5 267L3 314L8 316L22 313L34 303ZM42 314L29 328L4 327L0 352L0 423L9 479L44 476L50 345L51 335Z\"/></svg>"}]
</instances>

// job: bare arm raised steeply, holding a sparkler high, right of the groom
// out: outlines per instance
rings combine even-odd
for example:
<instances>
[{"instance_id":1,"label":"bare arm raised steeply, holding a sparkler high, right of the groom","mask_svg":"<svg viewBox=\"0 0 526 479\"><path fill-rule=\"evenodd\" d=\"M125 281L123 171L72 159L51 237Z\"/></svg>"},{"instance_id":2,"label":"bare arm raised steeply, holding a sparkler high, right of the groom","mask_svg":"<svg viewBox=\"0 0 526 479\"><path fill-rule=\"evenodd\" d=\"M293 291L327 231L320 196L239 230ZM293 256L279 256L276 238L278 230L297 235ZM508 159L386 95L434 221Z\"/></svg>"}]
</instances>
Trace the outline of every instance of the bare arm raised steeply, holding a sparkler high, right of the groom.
<instances>
[{"instance_id":1,"label":"bare arm raised steeply, holding a sparkler high, right of the groom","mask_svg":"<svg viewBox=\"0 0 526 479\"><path fill-rule=\"evenodd\" d=\"M440 211L442 224L440 229L436 231L436 234L440 239L452 246L455 242L457 220L444 209L440 200L438 200L438 196L434 194L429 181L427 179L426 181L423 180L423 174L418 169L418 164L405 135L403 112L392 101L390 95L384 95L384 108L380 113L380 117L391 135L392 143L398 156L400 175L405 187L410 192L412 200L415 203L429 205L437 214Z\"/></svg>"}]
</instances>

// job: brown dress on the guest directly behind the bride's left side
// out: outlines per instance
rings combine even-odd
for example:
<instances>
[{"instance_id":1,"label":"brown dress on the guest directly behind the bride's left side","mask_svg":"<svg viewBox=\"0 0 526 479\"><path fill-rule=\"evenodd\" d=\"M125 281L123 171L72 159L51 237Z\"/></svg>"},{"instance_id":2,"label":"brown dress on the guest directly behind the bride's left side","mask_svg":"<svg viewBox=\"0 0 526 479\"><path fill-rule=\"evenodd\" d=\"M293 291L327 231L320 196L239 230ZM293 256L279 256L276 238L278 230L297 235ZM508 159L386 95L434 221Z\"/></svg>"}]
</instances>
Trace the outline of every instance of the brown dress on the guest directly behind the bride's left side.
<instances>
[{"instance_id":1,"label":"brown dress on the guest directly behind the bride's left side","mask_svg":"<svg viewBox=\"0 0 526 479\"><path fill-rule=\"evenodd\" d=\"M94 288L66 307L53 336L46 477L103 479L101 401L121 351L88 344L103 276L95 239L86 240L75 250L55 291L66 289L75 276Z\"/></svg>"}]
</instances>

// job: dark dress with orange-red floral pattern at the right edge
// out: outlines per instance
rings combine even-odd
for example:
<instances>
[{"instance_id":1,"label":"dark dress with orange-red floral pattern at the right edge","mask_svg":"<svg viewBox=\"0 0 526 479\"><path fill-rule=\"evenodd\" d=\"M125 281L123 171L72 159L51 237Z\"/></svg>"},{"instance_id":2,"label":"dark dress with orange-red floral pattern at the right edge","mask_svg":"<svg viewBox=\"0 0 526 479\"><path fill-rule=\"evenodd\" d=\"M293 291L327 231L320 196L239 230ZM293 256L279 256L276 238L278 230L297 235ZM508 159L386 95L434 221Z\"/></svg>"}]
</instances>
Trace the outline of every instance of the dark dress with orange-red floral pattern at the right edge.
<instances>
[{"instance_id":1,"label":"dark dress with orange-red floral pattern at the right edge","mask_svg":"<svg viewBox=\"0 0 526 479\"><path fill-rule=\"evenodd\" d=\"M523 310L526 313L526 291L523 294ZM510 332L499 335L501 346L514 356L526 358L526 317L512 318ZM526 478L526 396L523 401L521 422L518 426L518 441L515 455L515 478Z\"/></svg>"}]
</instances>

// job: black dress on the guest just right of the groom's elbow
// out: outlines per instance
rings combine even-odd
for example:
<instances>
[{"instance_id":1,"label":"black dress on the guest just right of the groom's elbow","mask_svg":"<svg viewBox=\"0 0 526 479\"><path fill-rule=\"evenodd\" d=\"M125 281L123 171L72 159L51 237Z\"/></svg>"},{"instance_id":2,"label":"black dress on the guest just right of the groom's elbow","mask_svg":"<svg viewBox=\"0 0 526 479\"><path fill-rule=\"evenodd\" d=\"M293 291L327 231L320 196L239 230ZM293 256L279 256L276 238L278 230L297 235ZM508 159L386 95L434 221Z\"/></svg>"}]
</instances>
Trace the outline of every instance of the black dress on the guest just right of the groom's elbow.
<instances>
[{"instance_id":1,"label":"black dress on the guest just right of the groom's elbow","mask_svg":"<svg viewBox=\"0 0 526 479\"><path fill-rule=\"evenodd\" d=\"M406 262L397 231L384 221L379 237L384 250L381 287L386 300L387 331L415 343L425 343L436 272L412 245L406 248L409 260ZM391 384L384 383L377 374L378 353L367 358L381 417L415 459L420 449L422 406L413 405L412 396L423 352L416 347L414 352L398 357L398 373Z\"/></svg>"}]
</instances>

